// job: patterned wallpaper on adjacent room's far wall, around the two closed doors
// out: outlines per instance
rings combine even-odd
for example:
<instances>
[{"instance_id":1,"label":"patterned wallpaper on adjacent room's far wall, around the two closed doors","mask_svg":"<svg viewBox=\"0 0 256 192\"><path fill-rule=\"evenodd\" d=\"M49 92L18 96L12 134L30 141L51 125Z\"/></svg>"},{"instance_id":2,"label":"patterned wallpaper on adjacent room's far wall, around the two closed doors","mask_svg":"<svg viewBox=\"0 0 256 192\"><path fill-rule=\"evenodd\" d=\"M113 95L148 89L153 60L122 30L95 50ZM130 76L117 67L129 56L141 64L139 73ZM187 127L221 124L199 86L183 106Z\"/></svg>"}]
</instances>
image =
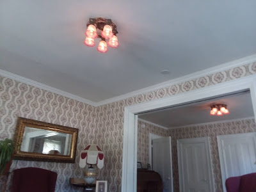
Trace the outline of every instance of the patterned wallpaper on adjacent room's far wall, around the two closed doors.
<instances>
[{"instance_id":1,"label":"patterned wallpaper on adjacent room's far wall, around the two closed doors","mask_svg":"<svg viewBox=\"0 0 256 192\"><path fill-rule=\"evenodd\" d=\"M256 124L253 119L235 120L225 123L212 123L191 127L183 127L170 130L172 137L172 161L173 161L173 189L179 192L179 169L177 157L177 140L185 138L210 137L212 168L215 180L216 192L223 192L221 182L220 157L218 153L217 136L222 134L237 134L244 132L255 132Z\"/></svg>"}]
</instances>

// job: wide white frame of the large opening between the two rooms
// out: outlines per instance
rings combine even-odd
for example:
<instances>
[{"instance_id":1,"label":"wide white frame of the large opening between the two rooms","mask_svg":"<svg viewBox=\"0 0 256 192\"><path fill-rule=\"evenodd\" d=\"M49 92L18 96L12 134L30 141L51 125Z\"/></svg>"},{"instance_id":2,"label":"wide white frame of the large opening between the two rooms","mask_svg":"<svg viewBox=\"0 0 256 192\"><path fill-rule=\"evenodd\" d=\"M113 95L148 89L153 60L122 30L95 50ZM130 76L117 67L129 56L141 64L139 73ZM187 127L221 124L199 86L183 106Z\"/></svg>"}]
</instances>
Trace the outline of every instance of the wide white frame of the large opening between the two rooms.
<instances>
[{"instance_id":1,"label":"wide white frame of the large opening between the two rooms","mask_svg":"<svg viewBox=\"0 0 256 192\"><path fill-rule=\"evenodd\" d=\"M256 114L256 78L255 75L242 77L225 83L214 84L189 92L151 100L141 104L126 106L124 109L124 141L122 161L122 192L137 191L137 140L139 113L162 109L177 104L189 103L195 100L225 95L232 92L250 90L253 112Z\"/></svg>"}]
</instances>

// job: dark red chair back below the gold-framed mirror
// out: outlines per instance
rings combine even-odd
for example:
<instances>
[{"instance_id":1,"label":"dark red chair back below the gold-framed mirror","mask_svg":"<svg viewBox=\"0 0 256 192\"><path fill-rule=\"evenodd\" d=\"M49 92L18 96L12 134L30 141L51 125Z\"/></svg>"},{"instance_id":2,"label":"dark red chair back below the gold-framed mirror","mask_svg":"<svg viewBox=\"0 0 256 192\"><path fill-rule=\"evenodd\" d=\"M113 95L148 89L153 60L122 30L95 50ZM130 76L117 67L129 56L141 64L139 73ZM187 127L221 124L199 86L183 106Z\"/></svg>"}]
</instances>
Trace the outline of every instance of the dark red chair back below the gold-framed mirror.
<instances>
[{"instance_id":1,"label":"dark red chair back below the gold-framed mirror","mask_svg":"<svg viewBox=\"0 0 256 192\"><path fill-rule=\"evenodd\" d=\"M54 192L57 173L41 168L13 171L12 192Z\"/></svg>"}]
</instances>

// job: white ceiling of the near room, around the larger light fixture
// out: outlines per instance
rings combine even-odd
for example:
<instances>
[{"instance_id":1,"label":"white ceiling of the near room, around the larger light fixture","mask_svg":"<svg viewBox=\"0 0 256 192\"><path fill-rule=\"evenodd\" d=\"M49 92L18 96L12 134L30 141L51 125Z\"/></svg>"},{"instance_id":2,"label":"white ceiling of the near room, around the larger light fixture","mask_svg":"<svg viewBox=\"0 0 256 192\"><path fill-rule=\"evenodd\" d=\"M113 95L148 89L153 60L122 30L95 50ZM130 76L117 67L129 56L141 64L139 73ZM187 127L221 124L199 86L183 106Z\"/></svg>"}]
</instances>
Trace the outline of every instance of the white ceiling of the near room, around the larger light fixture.
<instances>
[{"instance_id":1,"label":"white ceiling of the near room, around the larger light fixture","mask_svg":"<svg viewBox=\"0 0 256 192\"><path fill-rule=\"evenodd\" d=\"M0 68L99 102L256 53L256 1L0 1ZM120 47L83 44L90 17ZM170 75L160 74L170 70Z\"/></svg>"}]
</instances>

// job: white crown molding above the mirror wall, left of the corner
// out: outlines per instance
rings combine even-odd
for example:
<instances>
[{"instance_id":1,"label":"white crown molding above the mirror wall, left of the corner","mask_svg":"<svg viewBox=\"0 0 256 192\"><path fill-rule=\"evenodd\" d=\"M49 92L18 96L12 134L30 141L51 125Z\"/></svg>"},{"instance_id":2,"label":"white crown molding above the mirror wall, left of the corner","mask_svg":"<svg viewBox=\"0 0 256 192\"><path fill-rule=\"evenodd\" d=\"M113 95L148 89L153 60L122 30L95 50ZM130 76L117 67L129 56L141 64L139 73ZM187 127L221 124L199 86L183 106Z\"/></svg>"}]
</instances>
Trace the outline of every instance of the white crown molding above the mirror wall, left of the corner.
<instances>
[{"instance_id":1,"label":"white crown molding above the mirror wall, left of the corner","mask_svg":"<svg viewBox=\"0 0 256 192\"><path fill-rule=\"evenodd\" d=\"M19 81L21 83L26 83L26 84L29 84L31 86L35 86L36 88L40 88L40 89L48 91L48 92L52 92L52 93L56 93L58 95L62 95L63 97L74 99L74 100L83 102L84 104L88 104L88 105L91 105L91 106L96 106L96 103L92 102L91 100L84 99L84 98L79 97L77 95L74 95L72 93L68 93L68 92L64 92L62 90L58 90L56 88L53 88L52 86L48 86L46 84L42 84L42 83L39 83L37 81L33 81L33 80L28 79L26 77L18 76L16 74L7 72L5 70L0 69L0 76L7 77L7 78L13 79L15 81Z\"/></svg>"}]
</instances>

